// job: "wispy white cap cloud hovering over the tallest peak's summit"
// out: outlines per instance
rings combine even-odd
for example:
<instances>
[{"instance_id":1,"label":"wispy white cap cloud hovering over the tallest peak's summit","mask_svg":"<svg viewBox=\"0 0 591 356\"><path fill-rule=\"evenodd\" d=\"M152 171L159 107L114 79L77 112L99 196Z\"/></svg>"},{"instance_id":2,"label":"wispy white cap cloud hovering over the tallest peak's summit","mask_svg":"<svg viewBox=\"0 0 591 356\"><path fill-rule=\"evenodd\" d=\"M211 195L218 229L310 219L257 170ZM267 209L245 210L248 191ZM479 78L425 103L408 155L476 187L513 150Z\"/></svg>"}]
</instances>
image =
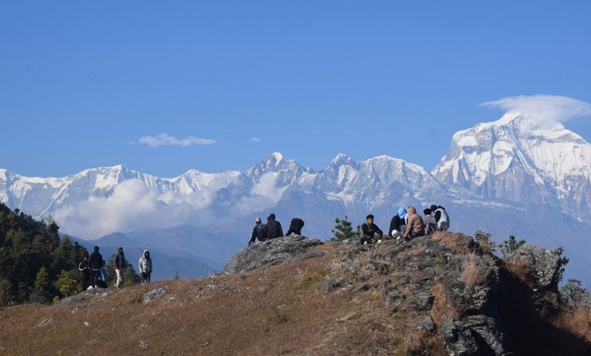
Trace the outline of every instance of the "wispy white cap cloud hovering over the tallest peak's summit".
<instances>
[{"instance_id":1,"label":"wispy white cap cloud hovering over the tallest peak's summit","mask_svg":"<svg viewBox=\"0 0 591 356\"><path fill-rule=\"evenodd\" d=\"M480 105L504 109L508 115L522 114L534 125L565 122L571 118L591 115L591 104L556 95L510 96Z\"/></svg>"}]
</instances>

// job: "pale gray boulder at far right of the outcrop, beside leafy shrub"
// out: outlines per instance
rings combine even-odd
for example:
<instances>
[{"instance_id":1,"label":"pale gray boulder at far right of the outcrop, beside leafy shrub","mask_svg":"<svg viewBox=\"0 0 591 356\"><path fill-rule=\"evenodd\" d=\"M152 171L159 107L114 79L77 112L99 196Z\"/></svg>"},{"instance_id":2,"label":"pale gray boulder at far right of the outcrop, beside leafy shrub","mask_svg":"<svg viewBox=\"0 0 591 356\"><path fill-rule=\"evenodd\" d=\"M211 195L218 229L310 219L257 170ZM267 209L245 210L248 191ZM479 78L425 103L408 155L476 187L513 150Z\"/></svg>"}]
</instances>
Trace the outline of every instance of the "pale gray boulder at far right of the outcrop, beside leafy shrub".
<instances>
[{"instance_id":1,"label":"pale gray boulder at far right of the outcrop, beside leafy shrub","mask_svg":"<svg viewBox=\"0 0 591 356\"><path fill-rule=\"evenodd\" d=\"M532 281L539 290L558 289L558 271L560 269L560 256L545 248L525 244L513 251L507 257L512 263L525 263L530 271Z\"/></svg>"}]
</instances>

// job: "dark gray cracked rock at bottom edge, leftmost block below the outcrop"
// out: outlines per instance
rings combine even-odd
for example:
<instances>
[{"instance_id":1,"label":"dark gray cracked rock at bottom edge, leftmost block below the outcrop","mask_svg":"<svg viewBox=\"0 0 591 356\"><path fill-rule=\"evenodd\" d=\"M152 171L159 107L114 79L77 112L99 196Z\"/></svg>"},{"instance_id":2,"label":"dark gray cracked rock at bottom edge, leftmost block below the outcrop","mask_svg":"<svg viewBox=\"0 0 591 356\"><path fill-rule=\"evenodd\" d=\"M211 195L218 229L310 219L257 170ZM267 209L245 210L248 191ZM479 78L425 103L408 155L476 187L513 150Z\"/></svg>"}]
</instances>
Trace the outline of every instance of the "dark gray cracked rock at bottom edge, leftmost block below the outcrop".
<instances>
[{"instance_id":1,"label":"dark gray cracked rock at bottom edge, leftmost block below the outcrop","mask_svg":"<svg viewBox=\"0 0 591 356\"><path fill-rule=\"evenodd\" d=\"M472 336L472 331L462 322L453 319L441 321L439 328L443 343L450 356L481 355L482 352Z\"/></svg>"}]
</instances>

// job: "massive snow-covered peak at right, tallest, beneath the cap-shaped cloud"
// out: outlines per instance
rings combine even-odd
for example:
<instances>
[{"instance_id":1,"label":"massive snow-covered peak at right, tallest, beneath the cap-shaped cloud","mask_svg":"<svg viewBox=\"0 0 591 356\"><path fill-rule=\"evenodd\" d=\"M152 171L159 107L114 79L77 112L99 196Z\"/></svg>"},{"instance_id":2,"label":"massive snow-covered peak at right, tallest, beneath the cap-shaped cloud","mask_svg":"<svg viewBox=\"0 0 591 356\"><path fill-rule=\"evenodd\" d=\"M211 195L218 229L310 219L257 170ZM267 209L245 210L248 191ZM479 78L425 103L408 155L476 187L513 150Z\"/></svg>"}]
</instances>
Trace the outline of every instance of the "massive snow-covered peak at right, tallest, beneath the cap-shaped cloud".
<instances>
[{"instance_id":1,"label":"massive snow-covered peak at right, tallest, beneath the cap-shaped cloud","mask_svg":"<svg viewBox=\"0 0 591 356\"><path fill-rule=\"evenodd\" d=\"M591 221L591 144L525 114L457 132L432 172L450 187L517 203L548 203Z\"/></svg>"}]
</instances>

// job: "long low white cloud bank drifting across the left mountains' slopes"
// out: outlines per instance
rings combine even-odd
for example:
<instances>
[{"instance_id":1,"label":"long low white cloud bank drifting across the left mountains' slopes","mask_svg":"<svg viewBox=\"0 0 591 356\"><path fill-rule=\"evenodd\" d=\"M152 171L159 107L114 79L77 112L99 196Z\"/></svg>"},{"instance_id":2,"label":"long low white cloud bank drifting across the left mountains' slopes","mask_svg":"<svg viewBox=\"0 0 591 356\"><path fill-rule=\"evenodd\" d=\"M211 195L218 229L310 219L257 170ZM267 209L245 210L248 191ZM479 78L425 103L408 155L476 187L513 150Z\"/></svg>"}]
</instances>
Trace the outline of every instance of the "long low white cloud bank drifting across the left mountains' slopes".
<instances>
[{"instance_id":1,"label":"long low white cloud bank drifting across the left mountains' slopes","mask_svg":"<svg viewBox=\"0 0 591 356\"><path fill-rule=\"evenodd\" d=\"M218 191L235 196L216 202ZM212 180L199 190L177 193L148 187L141 179L125 180L104 196L70 199L68 205L52 212L61 231L80 238L99 238L112 232L165 229L181 225L218 228L236 219L274 206L287 187L277 187L273 173L263 174L248 189L238 177ZM245 194L245 190L246 193Z\"/></svg>"}]
</instances>

